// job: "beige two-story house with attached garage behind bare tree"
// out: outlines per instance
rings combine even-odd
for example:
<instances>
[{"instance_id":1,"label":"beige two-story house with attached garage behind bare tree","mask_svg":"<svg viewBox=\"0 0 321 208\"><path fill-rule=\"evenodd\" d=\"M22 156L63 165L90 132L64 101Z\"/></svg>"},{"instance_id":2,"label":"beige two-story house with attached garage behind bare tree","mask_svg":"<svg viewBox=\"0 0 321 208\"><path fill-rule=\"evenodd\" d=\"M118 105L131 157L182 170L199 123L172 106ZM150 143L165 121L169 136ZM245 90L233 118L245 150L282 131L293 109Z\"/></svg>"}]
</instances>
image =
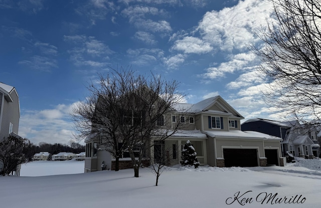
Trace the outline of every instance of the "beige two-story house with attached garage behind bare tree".
<instances>
[{"instance_id":1,"label":"beige two-story house with attached garage behind bare tree","mask_svg":"<svg viewBox=\"0 0 321 208\"><path fill-rule=\"evenodd\" d=\"M218 167L229 166L266 166L267 164L284 165L281 156L281 138L267 134L241 131L243 118L221 96L208 98L196 104L178 103L174 111L164 115L155 125L175 126L179 121L188 127L178 130L174 135L159 142L151 137L150 142L157 142L146 154L153 160L166 157L168 165L180 164L182 147L187 140L193 144L201 165ZM185 116L180 109L188 109ZM85 140L85 172L101 169L113 169L113 158L101 145L99 136L92 135ZM138 151L139 149L137 149ZM161 155L155 154L160 152ZM128 161L129 155L124 151L122 161ZM130 162L130 161L129 161ZM122 164L119 164L122 168Z\"/></svg>"}]
</instances>

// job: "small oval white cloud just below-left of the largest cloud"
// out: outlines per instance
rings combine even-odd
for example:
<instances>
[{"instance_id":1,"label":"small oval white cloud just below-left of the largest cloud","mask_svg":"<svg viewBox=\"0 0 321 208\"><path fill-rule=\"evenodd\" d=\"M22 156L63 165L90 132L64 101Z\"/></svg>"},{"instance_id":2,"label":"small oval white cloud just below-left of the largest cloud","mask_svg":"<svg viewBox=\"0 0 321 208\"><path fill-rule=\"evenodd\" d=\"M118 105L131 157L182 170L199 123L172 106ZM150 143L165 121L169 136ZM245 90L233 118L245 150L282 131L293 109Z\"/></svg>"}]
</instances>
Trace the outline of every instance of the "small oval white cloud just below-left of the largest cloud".
<instances>
[{"instance_id":1,"label":"small oval white cloud just below-left of the largest cloud","mask_svg":"<svg viewBox=\"0 0 321 208\"><path fill-rule=\"evenodd\" d=\"M209 43L191 36L185 37L183 40L177 40L172 49L183 51L186 54L205 54L213 50Z\"/></svg>"}]
</instances>

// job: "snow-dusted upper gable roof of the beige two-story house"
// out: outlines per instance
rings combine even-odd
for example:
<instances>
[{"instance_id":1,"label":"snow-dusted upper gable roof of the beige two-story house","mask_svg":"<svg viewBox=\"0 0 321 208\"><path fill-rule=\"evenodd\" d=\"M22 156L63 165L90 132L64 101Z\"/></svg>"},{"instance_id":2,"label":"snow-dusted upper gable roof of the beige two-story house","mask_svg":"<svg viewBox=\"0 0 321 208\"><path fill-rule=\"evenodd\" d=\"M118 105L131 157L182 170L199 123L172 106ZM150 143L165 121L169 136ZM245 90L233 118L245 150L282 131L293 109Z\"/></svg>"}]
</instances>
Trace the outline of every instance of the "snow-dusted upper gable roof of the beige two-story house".
<instances>
[{"instance_id":1,"label":"snow-dusted upper gable roof of the beige two-story house","mask_svg":"<svg viewBox=\"0 0 321 208\"><path fill-rule=\"evenodd\" d=\"M215 105L222 110L221 111L211 110L210 108ZM188 113L200 113L203 111L207 111L212 113L224 113L224 114L229 114L230 116L234 115L236 117L244 118L219 95L215 97L207 98L195 104L176 103L173 105L173 108L177 111L182 111L184 109Z\"/></svg>"}]
</instances>

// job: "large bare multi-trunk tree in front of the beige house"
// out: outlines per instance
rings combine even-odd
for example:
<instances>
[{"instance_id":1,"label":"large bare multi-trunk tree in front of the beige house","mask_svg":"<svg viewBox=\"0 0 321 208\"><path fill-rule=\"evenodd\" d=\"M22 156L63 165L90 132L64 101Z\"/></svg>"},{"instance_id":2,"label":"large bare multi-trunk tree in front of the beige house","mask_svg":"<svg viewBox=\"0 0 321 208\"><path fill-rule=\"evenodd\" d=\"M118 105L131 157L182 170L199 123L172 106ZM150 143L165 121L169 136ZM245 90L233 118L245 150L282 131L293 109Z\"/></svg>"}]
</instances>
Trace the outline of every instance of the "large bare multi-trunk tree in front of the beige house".
<instances>
[{"instance_id":1,"label":"large bare multi-trunk tree in front of the beige house","mask_svg":"<svg viewBox=\"0 0 321 208\"><path fill-rule=\"evenodd\" d=\"M153 146L150 140L164 140L182 126L165 125L159 118L174 111L173 104L184 96L178 94L176 81L145 77L131 69L112 70L99 79L88 88L90 96L72 111L76 129L82 137L99 136L116 165L122 151L128 151L138 177L142 159Z\"/></svg>"}]
</instances>

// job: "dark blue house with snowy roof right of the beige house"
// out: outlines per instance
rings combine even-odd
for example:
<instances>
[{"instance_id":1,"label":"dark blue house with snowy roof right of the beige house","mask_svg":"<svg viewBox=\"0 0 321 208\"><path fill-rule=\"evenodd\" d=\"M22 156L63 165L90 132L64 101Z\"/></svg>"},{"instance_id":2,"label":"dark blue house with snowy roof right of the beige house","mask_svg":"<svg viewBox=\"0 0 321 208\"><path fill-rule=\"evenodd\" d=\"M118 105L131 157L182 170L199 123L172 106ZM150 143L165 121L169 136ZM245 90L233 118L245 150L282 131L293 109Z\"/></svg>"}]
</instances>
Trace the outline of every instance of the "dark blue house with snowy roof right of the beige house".
<instances>
[{"instance_id":1,"label":"dark blue house with snowy roof right of the beige house","mask_svg":"<svg viewBox=\"0 0 321 208\"><path fill-rule=\"evenodd\" d=\"M316 129L304 128L297 121L274 121L262 118L249 119L241 124L242 130L251 130L283 139L282 154L289 151L297 157L319 157Z\"/></svg>"}]
</instances>

